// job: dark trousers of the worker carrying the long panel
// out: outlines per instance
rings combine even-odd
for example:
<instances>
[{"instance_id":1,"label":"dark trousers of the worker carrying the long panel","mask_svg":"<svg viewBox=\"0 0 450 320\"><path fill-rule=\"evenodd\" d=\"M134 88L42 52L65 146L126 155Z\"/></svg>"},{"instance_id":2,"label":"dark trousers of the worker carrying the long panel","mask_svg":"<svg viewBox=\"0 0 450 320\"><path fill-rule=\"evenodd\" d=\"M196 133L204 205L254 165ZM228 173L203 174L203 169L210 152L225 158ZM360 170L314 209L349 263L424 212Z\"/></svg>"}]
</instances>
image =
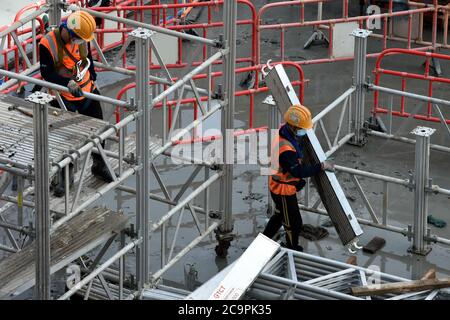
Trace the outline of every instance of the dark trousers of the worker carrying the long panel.
<instances>
[{"instance_id":1,"label":"dark trousers of the worker carrying the long panel","mask_svg":"<svg viewBox=\"0 0 450 320\"><path fill-rule=\"evenodd\" d=\"M281 196L272 192L270 194L275 203L275 213L270 217L263 234L273 238L283 225L286 231L286 246L289 249L301 250L298 237L303 221L298 208L297 195Z\"/></svg>"}]
</instances>

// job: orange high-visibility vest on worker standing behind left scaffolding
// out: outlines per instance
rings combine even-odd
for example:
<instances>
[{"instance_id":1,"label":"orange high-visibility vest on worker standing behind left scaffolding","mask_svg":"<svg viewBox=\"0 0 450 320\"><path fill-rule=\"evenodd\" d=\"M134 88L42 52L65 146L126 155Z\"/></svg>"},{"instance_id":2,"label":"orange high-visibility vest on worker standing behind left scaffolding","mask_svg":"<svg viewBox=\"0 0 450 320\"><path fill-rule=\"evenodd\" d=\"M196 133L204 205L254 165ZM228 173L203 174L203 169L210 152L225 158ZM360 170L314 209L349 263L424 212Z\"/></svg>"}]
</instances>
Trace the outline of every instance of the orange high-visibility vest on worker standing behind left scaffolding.
<instances>
[{"instance_id":1,"label":"orange high-visibility vest on worker standing behind left scaffolding","mask_svg":"<svg viewBox=\"0 0 450 320\"><path fill-rule=\"evenodd\" d=\"M64 78L72 79L74 76L76 63L80 60L86 59L86 44L78 45L67 43L64 45L59 34L59 29L55 29L47 33L41 39L40 43L51 53L58 74ZM70 54L66 52L63 45ZM84 92L94 91L95 85L91 80L91 74L89 71L86 72L83 80L81 80L78 85ZM84 99L84 97L75 97L71 93L65 91L61 91L60 95L64 99L71 101Z\"/></svg>"}]
</instances>

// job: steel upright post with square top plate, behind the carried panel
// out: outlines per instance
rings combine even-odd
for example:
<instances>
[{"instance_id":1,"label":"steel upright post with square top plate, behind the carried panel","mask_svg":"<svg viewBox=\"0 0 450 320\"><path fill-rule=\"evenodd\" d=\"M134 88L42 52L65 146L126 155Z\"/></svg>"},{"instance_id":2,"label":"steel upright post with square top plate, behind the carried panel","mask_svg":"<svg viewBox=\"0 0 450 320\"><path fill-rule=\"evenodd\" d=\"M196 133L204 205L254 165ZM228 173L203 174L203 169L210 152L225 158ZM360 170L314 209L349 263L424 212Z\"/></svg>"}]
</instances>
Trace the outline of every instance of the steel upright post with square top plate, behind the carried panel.
<instances>
[{"instance_id":1,"label":"steel upright post with square top plate, behind the carried panel","mask_svg":"<svg viewBox=\"0 0 450 320\"><path fill-rule=\"evenodd\" d=\"M364 132L364 105L365 105L365 81L366 81L366 54L367 38L372 31L356 29L352 32L355 37L355 54L353 67L353 86L356 88L353 99L354 111L352 112L352 129L355 135L349 143L362 146L367 142Z\"/></svg>"}]
</instances>

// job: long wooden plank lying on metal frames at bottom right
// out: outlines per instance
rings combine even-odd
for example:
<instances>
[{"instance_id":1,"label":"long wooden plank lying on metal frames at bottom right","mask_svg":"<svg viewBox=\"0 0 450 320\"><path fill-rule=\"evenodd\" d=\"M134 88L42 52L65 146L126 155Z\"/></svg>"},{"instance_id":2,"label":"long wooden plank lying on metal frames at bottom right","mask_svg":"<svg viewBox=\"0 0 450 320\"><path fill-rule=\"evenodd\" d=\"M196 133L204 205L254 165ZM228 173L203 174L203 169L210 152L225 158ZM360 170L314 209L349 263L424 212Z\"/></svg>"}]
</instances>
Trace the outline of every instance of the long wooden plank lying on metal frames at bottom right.
<instances>
[{"instance_id":1,"label":"long wooden plank lying on metal frames at bottom right","mask_svg":"<svg viewBox=\"0 0 450 320\"><path fill-rule=\"evenodd\" d=\"M450 287L450 278L373 284L368 286L352 287L351 292L354 296L374 296L387 293L407 293L448 287Z\"/></svg>"}]
</instances>

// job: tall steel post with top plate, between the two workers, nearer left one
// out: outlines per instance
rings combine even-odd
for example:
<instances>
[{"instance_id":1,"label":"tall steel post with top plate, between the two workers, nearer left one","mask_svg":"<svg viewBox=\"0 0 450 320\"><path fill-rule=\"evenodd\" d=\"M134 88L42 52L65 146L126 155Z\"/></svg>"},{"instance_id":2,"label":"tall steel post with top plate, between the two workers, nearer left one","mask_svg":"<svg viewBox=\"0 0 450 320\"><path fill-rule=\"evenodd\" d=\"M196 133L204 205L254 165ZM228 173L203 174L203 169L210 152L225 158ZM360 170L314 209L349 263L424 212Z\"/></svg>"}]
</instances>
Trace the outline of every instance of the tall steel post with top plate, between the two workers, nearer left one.
<instances>
[{"instance_id":1,"label":"tall steel post with top plate, between the two workers, nearer left one","mask_svg":"<svg viewBox=\"0 0 450 320\"><path fill-rule=\"evenodd\" d=\"M136 254L136 277L138 289L148 281L149 267L149 173L150 173L150 110L151 94L149 91L149 50L150 37L154 32L137 28L130 35L136 46L136 103L139 117L136 120L136 160L139 169L136 174L136 230L142 242Z\"/></svg>"}]
</instances>

